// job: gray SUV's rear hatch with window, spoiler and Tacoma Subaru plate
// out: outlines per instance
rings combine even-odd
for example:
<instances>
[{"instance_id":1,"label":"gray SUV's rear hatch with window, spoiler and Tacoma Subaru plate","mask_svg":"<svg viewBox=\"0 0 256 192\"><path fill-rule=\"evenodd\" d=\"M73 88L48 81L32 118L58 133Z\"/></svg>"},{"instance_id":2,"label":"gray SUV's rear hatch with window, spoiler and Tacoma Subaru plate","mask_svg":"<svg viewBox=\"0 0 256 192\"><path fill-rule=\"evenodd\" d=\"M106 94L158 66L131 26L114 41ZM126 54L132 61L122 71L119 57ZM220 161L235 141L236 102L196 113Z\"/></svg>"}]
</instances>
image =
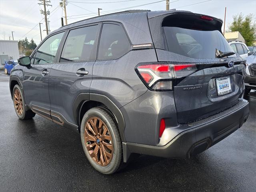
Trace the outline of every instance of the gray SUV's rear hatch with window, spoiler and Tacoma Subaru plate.
<instances>
[{"instance_id":1,"label":"gray SUV's rear hatch with window, spoiler and Tacoma Subaru plate","mask_svg":"<svg viewBox=\"0 0 256 192\"><path fill-rule=\"evenodd\" d=\"M149 18L149 24L159 62L197 67L174 83L179 123L200 120L238 103L245 62L238 54L218 58L222 52L233 52L221 33L221 20L172 12Z\"/></svg>"}]
</instances>

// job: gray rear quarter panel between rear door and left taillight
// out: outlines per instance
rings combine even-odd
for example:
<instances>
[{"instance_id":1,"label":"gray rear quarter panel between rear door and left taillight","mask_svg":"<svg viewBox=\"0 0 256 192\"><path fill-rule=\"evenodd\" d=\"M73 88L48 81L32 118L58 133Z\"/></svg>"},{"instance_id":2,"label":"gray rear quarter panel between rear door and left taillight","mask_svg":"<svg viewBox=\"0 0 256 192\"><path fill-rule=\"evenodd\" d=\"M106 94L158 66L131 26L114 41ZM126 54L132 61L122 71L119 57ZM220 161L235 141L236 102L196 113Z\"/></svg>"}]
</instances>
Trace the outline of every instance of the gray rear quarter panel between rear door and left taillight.
<instances>
[{"instance_id":1,"label":"gray rear quarter panel between rear door and left taillight","mask_svg":"<svg viewBox=\"0 0 256 192\"><path fill-rule=\"evenodd\" d=\"M121 108L147 91L135 66L154 61L157 61L154 49L132 50L117 60L96 61L90 93L105 95Z\"/></svg>"}]
</instances>

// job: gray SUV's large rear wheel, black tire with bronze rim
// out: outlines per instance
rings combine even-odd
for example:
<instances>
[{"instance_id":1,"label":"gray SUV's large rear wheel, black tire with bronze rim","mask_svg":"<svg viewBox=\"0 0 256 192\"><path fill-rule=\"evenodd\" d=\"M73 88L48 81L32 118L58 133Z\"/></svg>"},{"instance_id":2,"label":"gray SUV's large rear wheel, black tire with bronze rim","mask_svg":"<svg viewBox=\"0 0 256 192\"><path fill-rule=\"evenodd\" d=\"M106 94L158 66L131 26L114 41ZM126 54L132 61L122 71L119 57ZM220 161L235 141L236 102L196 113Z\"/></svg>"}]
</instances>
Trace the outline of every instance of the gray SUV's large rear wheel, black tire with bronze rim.
<instances>
[{"instance_id":1,"label":"gray SUV's large rear wheel, black tire with bronze rim","mask_svg":"<svg viewBox=\"0 0 256 192\"><path fill-rule=\"evenodd\" d=\"M112 174L122 168L122 142L116 120L109 110L103 107L88 110L82 118L80 133L84 153L98 172ZM106 136L108 139L104 140Z\"/></svg>"}]
</instances>

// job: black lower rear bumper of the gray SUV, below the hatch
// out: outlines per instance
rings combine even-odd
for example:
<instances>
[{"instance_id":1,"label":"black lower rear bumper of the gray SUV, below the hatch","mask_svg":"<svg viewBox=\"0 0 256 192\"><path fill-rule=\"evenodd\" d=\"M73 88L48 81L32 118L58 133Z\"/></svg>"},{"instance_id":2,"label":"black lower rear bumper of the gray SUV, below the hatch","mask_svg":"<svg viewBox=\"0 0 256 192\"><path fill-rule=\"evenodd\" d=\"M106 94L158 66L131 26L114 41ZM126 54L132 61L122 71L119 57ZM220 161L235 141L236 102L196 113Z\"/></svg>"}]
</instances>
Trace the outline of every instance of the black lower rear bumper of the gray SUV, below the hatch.
<instances>
[{"instance_id":1,"label":"black lower rear bumper of the gray SUV, below the hatch","mask_svg":"<svg viewBox=\"0 0 256 192\"><path fill-rule=\"evenodd\" d=\"M248 101L241 99L232 108L214 116L183 124L185 129L164 146L123 142L124 162L128 160L131 153L166 158L190 158L232 134L242 126L248 116Z\"/></svg>"}]
</instances>

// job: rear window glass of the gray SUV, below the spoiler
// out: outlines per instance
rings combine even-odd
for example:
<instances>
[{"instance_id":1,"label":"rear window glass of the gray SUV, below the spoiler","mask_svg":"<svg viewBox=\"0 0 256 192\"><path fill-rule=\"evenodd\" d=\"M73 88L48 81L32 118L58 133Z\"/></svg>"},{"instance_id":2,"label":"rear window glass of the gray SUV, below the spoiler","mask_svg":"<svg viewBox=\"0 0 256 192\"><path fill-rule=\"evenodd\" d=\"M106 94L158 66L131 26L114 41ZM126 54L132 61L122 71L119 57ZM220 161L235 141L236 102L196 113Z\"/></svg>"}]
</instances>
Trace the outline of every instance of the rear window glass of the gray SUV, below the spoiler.
<instances>
[{"instance_id":1,"label":"rear window glass of the gray SUV, below the spoiler","mask_svg":"<svg viewBox=\"0 0 256 192\"><path fill-rule=\"evenodd\" d=\"M201 31L179 27L162 27L166 49L169 52L196 59L216 58L216 49L234 52L218 31ZM236 54L228 57L234 57Z\"/></svg>"}]
</instances>

